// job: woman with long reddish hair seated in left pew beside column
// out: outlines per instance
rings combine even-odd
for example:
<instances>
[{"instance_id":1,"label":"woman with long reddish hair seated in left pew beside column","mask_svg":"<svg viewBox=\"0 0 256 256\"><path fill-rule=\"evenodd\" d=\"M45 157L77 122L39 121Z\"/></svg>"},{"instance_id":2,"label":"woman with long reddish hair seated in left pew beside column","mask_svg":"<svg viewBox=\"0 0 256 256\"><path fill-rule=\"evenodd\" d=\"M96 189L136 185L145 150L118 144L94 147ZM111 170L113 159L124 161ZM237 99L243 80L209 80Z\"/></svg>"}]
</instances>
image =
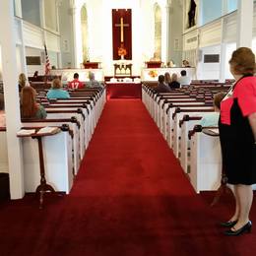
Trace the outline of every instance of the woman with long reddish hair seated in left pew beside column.
<instances>
[{"instance_id":1,"label":"woman with long reddish hair seated in left pew beside column","mask_svg":"<svg viewBox=\"0 0 256 256\"><path fill-rule=\"evenodd\" d=\"M32 87L25 87L22 90L21 115L22 118L46 118L44 107L35 101L36 92Z\"/></svg>"}]
</instances>

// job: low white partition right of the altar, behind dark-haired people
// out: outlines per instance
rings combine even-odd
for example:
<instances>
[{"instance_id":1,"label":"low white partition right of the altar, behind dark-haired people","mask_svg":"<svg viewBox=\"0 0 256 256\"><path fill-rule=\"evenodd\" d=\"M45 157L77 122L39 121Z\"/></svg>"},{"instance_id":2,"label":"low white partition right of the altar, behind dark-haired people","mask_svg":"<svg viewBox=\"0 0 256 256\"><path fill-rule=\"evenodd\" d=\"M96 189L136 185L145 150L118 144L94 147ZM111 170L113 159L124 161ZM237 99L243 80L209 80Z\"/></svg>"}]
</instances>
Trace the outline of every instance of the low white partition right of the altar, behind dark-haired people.
<instances>
[{"instance_id":1,"label":"low white partition right of the altar, behind dark-haired people","mask_svg":"<svg viewBox=\"0 0 256 256\"><path fill-rule=\"evenodd\" d=\"M191 79L196 79L196 69L195 68L142 68L141 80L142 81L158 81L160 75L164 75L168 72L171 76L172 73L176 73L180 77L180 71L186 70L187 76Z\"/></svg>"}]
</instances>

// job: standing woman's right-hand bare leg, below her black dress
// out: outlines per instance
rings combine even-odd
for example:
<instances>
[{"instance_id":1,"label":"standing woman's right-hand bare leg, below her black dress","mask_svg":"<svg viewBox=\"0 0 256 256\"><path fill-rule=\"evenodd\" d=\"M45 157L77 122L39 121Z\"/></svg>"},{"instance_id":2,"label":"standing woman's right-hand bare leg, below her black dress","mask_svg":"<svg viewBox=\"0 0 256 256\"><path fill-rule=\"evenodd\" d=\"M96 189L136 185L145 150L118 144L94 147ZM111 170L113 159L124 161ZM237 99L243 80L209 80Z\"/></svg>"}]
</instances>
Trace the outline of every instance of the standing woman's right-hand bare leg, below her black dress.
<instances>
[{"instance_id":1,"label":"standing woman's right-hand bare leg, below her black dress","mask_svg":"<svg viewBox=\"0 0 256 256\"><path fill-rule=\"evenodd\" d=\"M249 214L251 210L253 192L250 185L235 185L236 198L239 202L239 219L238 223L234 225L234 229L239 229L244 224L249 222Z\"/></svg>"}]
</instances>

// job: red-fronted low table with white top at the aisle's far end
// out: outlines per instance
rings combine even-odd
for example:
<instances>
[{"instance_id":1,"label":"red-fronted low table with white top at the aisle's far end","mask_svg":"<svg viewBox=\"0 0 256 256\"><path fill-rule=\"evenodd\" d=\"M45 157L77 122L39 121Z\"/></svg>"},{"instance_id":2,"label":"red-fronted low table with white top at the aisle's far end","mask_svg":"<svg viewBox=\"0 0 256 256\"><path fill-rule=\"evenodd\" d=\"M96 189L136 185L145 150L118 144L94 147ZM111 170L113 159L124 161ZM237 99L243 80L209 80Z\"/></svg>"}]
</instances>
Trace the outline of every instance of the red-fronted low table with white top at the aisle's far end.
<instances>
[{"instance_id":1,"label":"red-fronted low table with white top at the aisle's far end","mask_svg":"<svg viewBox=\"0 0 256 256\"><path fill-rule=\"evenodd\" d=\"M127 98L127 97L142 97L142 84L132 82L107 83L106 82L107 98Z\"/></svg>"}]
</instances>

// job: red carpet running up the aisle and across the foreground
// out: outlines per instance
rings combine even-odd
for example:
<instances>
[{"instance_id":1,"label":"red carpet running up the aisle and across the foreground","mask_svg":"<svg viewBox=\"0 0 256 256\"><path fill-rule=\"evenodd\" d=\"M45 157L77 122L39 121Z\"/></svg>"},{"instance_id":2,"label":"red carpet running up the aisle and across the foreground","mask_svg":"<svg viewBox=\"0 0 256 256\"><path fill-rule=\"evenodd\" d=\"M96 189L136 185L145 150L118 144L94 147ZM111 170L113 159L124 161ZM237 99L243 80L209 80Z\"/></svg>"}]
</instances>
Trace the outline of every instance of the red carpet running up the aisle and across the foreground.
<instances>
[{"instance_id":1,"label":"red carpet running up the aisle and across the foreground","mask_svg":"<svg viewBox=\"0 0 256 256\"><path fill-rule=\"evenodd\" d=\"M110 100L70 196L0 205L0 255L255 255L225 237L222 201L196 195L140 100Z\"/></svg>"}]
</instances>

